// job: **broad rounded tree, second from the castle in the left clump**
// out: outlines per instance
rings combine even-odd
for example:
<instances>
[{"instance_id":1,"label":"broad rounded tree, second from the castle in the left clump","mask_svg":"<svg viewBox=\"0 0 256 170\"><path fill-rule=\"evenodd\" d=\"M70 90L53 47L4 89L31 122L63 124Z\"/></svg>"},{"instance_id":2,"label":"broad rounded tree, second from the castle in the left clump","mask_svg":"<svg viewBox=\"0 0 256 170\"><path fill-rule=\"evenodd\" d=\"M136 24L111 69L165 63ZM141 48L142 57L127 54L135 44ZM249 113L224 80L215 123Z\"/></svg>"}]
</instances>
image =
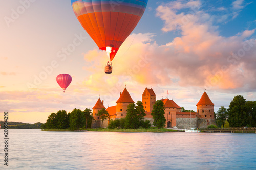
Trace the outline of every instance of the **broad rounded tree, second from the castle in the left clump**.
<instances>
[{"instance_id":1,"label":"broad rounded tree, second from the castle in the left clump","mask_svg":"<svg viewBox=\"0 0 256 170\"><path fill-rule=\"evenodd\" d=\"M74 109L70 113L70 126L71 130L80 129L86 125L86 118L80 109Z\"/></svg>"}]
</instances>

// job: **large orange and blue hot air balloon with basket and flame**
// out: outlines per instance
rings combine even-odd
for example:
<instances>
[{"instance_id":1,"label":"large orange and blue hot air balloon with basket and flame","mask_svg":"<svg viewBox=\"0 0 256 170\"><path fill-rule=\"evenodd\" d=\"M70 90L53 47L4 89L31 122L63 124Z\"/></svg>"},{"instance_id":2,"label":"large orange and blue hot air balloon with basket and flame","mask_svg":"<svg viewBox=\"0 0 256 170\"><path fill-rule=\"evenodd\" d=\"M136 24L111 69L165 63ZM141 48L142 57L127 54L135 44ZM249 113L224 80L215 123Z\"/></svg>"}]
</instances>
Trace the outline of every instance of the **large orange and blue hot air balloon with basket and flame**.
<instances>
[{"instance_id":1,"label":"large orange and blue hot air balloon with basket and flame","mask_svg":"<svg viewBox=\"0 0 256 170\"><path fill-rule=\"evenodd\" d=\"M112 61L138 24L147 0L71 0L71 3L83 28Z\"/></svg>"}]
</instances>

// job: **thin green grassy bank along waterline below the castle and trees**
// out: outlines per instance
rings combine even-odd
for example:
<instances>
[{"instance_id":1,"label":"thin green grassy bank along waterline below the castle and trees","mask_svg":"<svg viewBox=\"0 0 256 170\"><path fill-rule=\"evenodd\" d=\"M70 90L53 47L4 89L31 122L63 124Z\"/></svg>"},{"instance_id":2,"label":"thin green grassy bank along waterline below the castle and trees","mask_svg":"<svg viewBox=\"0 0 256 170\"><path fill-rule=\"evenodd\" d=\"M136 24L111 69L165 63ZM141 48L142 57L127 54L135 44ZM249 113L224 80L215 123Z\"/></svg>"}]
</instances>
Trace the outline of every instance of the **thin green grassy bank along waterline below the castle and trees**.
<instances>
[{"instance_id":1,"label":"thin green grassy bank along waterline below the castle and trees","mask_svg":"<svg viewBox=\"0 0 256 170\"><path fill-rule=\"evenodd\" d=\"M70 129L43 129L42 131L73 131ZM167 129L167 128L150 128L150 129L101 129L101 128L94 128L94 129L87 129L87 131L91 132L173 132L177 130Z\"/></svg>"}]
</instances>

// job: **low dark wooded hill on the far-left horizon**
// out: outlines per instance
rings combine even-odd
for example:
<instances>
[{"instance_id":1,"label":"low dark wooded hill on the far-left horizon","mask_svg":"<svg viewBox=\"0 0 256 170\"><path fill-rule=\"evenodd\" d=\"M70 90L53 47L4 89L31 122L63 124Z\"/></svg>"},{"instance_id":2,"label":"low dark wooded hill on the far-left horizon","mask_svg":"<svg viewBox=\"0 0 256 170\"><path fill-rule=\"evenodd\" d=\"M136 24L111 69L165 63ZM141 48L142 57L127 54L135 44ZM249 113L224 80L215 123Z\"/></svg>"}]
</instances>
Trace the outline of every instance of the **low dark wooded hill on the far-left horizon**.
<instances>
[{"instance_id":1,"label":"low dark wooded hill on the far-left horizon","mask_svg":"<svg viewBox=\"0 0 256 170\"><path fill-rule=\"evenodd\" d=\"M1 128L4 128L4 121L0 121ZM22 122L8 122L8 129L40 129L41 128L40 122L34 124L27 124Z\"/></svg>"}]
</instances>

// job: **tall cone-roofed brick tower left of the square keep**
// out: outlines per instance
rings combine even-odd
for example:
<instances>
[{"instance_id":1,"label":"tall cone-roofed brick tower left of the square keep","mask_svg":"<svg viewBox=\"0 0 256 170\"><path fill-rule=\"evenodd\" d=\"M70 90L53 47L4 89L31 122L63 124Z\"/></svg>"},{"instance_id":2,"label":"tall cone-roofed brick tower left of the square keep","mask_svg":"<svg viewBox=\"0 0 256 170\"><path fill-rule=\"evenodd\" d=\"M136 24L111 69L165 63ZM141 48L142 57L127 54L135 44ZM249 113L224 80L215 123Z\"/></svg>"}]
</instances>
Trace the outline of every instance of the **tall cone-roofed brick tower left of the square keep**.
<instances>
[{"instance_id":1,"label":"tall cone-roofed brick tower left of the square keep","mask_svg":"<svg viewBox=\"0 0 256 170\"><path fill-rule=\"evenodd\" d=\"M124 118L127 114L127 108L130 103L134 103L131 95L127 91L126 87L123 92L120 92L120 98L116 101L116 118Z\"/></svg>"}]
</instances>

